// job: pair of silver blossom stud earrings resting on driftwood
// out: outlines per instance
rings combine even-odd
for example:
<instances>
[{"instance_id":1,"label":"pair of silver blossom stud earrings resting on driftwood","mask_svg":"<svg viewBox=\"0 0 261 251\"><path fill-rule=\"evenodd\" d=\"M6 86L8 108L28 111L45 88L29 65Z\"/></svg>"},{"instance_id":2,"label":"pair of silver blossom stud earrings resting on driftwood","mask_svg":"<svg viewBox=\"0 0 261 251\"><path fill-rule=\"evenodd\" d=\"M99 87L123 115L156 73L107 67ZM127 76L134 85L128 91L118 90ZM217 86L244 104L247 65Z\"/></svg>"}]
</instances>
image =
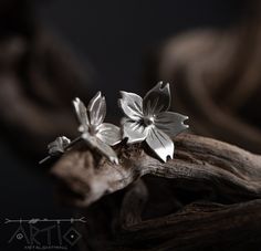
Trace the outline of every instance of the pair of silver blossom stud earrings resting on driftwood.
<instances>
[{"instance_id":1,"label":"pair of silver blossom stud earrings resting on driftwood","mask_svg":"<svg viewBox=\"0 0 261 251\"><path fill-rule=\"evenodd\" d=\"M118 158L112 146L123 139L127 144L146 142L156 156L164 163L174 156L174 142L177 136L189 126L184 124L188 116L168 112L171 101L169 84L164 86L159 82L147 92L144 98L135 93L121 92L118 106L125 117L121 127L104 123L106 102L101 92L90 101L87 107L80 98L73 101L81 135L74 140L65 136L58 137L48 145L49 156L40 161L46 161L52 156L58 156L72 148L74 144L84 140L91 149L97 150L112 163L118 164Z\"/></svg>"}]
</instances>

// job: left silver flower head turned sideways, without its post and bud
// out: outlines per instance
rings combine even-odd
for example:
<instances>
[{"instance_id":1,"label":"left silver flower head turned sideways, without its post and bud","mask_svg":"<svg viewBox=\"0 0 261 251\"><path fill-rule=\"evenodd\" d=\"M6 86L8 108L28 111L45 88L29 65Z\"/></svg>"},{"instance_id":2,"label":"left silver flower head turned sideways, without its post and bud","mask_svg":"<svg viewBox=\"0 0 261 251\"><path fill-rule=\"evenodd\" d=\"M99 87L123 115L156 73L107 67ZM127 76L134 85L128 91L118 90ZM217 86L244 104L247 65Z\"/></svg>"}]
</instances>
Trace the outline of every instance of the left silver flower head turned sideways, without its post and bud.
<instances>
[{"instance_id":1,"label":"left silver flower head turned sideways, without its post and bud","mask_svg":"<svg viewBox=\"0 0 261 251\"><path fill-rule=\"evenodd\" d=\"M106 115L105 97L98 92L88 103L87 108L80 98L73 101L80 122L79 130L91 148L98 150L111 161L118 164L118 158L111 146L122 140L119 127L103 123Z\"/></svg>"}]
</instances>

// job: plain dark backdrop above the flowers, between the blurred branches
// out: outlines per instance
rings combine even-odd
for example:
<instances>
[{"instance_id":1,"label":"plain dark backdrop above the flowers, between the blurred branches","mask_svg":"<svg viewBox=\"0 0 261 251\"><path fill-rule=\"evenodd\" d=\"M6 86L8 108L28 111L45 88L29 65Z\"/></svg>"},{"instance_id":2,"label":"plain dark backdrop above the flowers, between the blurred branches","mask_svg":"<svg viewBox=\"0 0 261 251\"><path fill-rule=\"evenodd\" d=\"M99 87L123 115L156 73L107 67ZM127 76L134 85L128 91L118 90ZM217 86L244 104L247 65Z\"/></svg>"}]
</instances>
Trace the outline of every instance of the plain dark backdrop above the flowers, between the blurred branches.
<instances>
[{"instance_id":1,"label":"plain dark backdrop above the flowers, between the blurred branches","mask_svg":"<svg viewBox=\"0 0 261 251\"><path fill-rule=\"evenodd\" d=\"M243 1L60 0L36 9L43 23L91 63L98 74L95 88L114 104L117 90L140 88L148 53L177 33L231 25Z\"/></svg>"}]
</instances>

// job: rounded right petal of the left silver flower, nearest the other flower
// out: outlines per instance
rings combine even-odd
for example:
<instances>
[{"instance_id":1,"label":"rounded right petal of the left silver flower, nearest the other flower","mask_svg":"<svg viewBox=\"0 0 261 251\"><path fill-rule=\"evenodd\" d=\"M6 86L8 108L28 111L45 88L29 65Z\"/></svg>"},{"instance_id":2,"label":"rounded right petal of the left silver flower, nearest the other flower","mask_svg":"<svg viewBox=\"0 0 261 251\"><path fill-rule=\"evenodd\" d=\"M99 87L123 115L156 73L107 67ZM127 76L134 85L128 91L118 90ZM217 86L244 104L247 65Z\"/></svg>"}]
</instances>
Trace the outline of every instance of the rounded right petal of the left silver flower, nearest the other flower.
<instances>
[{"instance_id":1,"label":"rounded right petal of the left silver flower, nearest the other flower","mask_svg":"<svg viewBox=\"0 0 261 251\"><path fill-rule=\"evenodd\" d=\"M119 127L109 123L103 123L97 127L96 137L109 146L114 146L122 140Z\"/></svg>"}]
</instances>

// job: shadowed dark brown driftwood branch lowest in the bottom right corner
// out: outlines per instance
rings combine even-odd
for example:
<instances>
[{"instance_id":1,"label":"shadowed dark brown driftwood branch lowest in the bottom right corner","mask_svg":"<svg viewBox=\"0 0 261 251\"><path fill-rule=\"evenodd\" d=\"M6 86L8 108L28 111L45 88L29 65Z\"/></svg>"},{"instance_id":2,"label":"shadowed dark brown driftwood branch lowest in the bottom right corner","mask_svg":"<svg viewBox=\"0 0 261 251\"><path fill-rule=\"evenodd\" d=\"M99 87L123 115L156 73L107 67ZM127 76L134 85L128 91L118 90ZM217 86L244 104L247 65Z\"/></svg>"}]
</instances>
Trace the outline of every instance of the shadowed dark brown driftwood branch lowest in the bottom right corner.
<instances>
[{"instance_id":1,"label":"shadowed dark brown driftwood branch lowest in the bottom right corner","mask_svg":"<svg viewBox=\"0 0 261 251\"><path fill-rule=\"evenodd\" d=\"M128 205L130 207L130 205ZM125 227L112 250L258 250L261 200L191 203L179 212ZM127 247L127 248L126 248ZM142 247L142 249L140 249Z\"/></svg>"}]
</instances>

